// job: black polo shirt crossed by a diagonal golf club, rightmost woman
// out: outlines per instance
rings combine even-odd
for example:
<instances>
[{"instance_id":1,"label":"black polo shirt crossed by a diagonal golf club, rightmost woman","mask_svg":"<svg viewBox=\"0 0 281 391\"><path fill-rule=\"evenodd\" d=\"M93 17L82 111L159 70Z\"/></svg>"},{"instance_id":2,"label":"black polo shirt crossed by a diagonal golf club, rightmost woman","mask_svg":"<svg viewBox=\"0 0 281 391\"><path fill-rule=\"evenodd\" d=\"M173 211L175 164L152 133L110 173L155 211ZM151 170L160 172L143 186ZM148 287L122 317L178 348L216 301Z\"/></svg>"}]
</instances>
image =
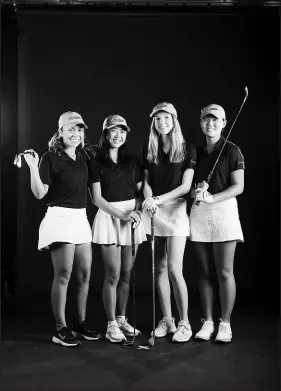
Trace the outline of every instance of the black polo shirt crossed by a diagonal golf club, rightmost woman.
<instances>
[{"instance_id":1,"label":"black polo shirt crossed by a diagonal golf club, rightmost woman","mask_svg":"<svg viewBox=\"0 0 281 391\"><path fill-rule=\"evenodd\" d=\"M199 183L207 179L220 153L224 141L225 138L221 137L210 154L207 151L206 143L196 148L197 163L194 175L195 183ZM211 194L216 194L226 190L229 186L231 186L231 172L240 169L245 169L244 156L237 145L227 140L209 182L208 191Z\"/></svg>"}]
</instances>

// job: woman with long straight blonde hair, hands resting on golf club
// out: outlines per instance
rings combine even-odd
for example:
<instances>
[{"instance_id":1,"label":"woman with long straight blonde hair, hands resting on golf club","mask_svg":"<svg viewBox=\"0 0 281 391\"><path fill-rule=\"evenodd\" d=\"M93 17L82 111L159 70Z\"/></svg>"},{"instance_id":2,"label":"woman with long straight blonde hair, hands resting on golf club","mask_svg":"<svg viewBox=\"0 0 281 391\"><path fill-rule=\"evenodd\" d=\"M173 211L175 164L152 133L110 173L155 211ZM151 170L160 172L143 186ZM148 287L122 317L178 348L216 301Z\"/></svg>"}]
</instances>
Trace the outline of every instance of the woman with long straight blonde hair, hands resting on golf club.
<instances>
[{"instance_id":1,"label":"woman with long straight blonde hair, hands resting on golf club","mask_svg":"<svg viewBox=\"0 0 281 391\"><path fill-rule=\"evenodd\" d=\"M186 195L193 180L196 151L185 142L175 107L163 102L154 107L148 145L143 153L143 222L151 233L150 213L155 212L155 262L158 297L163 319L156 337L173 333L174 342L186 342L192 335L188 320L188 294L183 277L186 238L190 236ZM171 312L171 289L179 312L178 326Z\"/></svg>"}]
</instances>

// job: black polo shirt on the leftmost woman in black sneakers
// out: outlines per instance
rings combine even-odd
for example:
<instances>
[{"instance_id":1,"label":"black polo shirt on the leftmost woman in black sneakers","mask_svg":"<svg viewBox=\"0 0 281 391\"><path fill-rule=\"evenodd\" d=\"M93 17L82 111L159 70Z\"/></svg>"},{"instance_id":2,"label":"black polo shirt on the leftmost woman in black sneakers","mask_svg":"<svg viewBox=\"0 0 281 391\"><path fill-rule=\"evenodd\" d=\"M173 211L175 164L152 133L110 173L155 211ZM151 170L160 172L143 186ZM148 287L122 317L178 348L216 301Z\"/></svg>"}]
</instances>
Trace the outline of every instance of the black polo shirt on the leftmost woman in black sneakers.
<instances>
[{"instance_id":1,"label":"black polo shirt on the leftmost woman in black sneakers","mask_svg":"<svg viewBox=\"0 0 281 391\"><path fill-rule=\"evenodd\" d=\"M67 153L46 152L39 165L42 182L49 185L44 199L48 206L85 208L87 205L88 167L87 157L76 151L76 160Z\"/></svg>"}]
</instances>

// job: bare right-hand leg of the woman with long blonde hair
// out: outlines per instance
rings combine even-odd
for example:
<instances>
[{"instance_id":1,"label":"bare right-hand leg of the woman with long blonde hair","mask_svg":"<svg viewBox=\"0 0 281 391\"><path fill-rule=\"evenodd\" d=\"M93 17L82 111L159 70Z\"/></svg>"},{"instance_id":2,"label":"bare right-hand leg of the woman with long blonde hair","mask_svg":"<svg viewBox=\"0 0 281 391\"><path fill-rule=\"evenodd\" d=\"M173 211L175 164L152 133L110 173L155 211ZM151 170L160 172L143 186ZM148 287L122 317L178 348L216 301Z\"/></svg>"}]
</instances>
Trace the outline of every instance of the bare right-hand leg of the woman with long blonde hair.
<instances>
[{"instance_id":1,"label":"bare right-hand leg of the woman with long blonde hair","mask_svg":"<svg viewBox=\"0 0 281 391\"><path fill-rule=\"evenodd\" d=\"M185 243L185 236L170 236L167 238L168 272L172 282L180 320L188 320L187 287L182 274Z\"/></svg>"}]
</instances>

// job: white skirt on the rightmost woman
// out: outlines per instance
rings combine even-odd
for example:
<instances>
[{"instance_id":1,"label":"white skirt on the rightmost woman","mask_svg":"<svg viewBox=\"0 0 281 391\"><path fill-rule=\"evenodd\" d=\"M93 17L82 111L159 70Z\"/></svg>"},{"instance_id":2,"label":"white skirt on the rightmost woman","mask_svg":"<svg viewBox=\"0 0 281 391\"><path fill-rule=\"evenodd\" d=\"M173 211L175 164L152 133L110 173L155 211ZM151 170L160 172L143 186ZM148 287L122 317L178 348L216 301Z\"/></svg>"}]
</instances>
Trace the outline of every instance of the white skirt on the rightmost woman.
<instances>
[{"instance_id":1,"label":"white skirt on the rightmost woman","mask_svg":"<svg viewBox=\"0 0 281 391\"><path fill-rule=\"evenodd\" d=\"M189 218L193 242L244 241L236 197L193 205Z\"/></svg>"}]
</instances>

